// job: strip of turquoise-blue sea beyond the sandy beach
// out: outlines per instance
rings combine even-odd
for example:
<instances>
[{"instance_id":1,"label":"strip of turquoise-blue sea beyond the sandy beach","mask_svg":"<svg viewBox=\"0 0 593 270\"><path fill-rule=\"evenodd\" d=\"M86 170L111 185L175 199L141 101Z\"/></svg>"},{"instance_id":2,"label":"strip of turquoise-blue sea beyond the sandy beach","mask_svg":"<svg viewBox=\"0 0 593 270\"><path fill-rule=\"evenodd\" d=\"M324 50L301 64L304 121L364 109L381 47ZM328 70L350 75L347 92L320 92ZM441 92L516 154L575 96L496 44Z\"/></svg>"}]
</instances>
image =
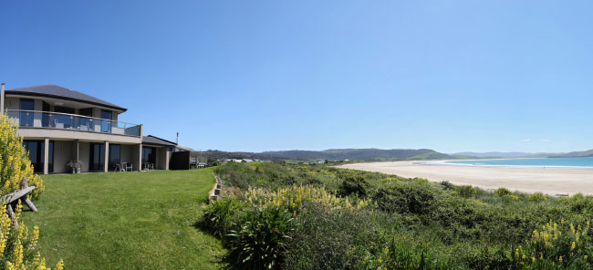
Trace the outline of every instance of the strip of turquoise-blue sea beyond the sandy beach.
<instances>
[{"instance_id":1,"label":"strip of turquoise-blue sea beyond the sandy beach","mask_svg":"<svg viewBox=\"0 0 593 270\"><path fill-rule=\"evenodd\" d=\"M444 163L473 166L529 166L529 167L566 167L593 169L593 158L549 158L549 159L505 159L445 161Z\"/></svg>"}]
</instances>

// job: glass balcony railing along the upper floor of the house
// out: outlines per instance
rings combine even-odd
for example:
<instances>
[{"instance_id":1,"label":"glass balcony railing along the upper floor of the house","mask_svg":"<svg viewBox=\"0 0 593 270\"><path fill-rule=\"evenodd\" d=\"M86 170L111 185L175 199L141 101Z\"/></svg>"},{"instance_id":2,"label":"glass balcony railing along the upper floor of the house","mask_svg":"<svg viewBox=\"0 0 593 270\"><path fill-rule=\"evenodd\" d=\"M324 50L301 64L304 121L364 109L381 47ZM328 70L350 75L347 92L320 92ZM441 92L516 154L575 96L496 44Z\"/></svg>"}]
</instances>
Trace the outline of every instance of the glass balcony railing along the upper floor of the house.
<instances>
[{"instance_id":1,"label":"glass balcony railing along the upper floor of the house","mask_svg":"<svg viewBox=\"0 0 593 270\"><path fill-rule=\"evenodd\" d=\"M140 136L140 125L109 119L98 119L75 114L35 111L6 110L6 115L22 128L46 128L57 130L80 130Z\"/></svg>"}]
</instances>

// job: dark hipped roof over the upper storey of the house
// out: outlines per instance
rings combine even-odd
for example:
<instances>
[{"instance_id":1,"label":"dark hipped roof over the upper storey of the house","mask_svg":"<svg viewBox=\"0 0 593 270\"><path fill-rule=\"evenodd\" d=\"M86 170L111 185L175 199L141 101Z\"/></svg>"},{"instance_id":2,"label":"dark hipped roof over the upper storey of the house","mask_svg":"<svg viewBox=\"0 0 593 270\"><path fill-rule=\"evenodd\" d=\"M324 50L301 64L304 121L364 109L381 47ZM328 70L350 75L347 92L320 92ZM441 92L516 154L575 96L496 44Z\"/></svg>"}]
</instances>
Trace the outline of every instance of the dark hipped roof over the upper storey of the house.
<instances>
[{"instance_id":1,"label":"dark hipped roof over the upper storey of the house","mask_svg":"<svg viewBox=\"0 0 593 270\"><path fill-rule=\"evenodd\" d=\"M109 103L102 99L88 96L87 94L80 93L75 90L68 88L58 87L56 85L43 85L26 88L14 88L6 90L6 94L10 95L22 95L22 96L33 96L33 97L46 97L54 99L68 99L72 101L84 102L92 105L107 107L109 109L118 109L126 111L128 109L121 108L113 103Z\"/></svg>"}]
</instances>

